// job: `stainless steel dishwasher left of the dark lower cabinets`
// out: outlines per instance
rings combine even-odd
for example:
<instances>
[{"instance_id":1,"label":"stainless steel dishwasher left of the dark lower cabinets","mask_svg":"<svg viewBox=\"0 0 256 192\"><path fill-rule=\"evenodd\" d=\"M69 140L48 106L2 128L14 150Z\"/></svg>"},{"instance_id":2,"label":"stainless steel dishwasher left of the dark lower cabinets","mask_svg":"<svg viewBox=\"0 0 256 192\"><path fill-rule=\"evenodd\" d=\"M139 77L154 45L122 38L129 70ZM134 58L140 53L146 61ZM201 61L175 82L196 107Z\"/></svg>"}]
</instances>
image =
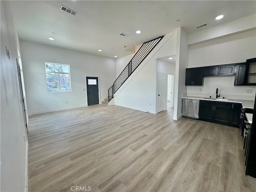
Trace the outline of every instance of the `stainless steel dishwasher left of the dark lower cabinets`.
<instances>
[{"instance_id":1,"label":"stainless steel dishwasher left of the dark lower cabinets","mask_svg":"<svg viewBox=\"0 0 256 192\"><path fill-rule=\"evenodd\" d=\"M199 99L182 99L182 116L198 119Z\"/></svg>"}]
</instances>

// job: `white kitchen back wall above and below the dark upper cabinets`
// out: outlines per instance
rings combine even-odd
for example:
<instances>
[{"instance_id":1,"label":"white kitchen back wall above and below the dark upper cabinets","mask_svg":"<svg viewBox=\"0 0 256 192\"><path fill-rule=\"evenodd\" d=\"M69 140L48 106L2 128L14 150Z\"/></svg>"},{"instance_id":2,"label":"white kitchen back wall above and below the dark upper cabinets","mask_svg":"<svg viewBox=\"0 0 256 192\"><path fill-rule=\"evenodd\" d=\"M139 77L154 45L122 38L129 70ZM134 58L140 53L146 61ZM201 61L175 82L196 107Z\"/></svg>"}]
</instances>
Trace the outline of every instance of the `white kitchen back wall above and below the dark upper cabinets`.
<instances>
[{"instance_id":1,"label":"white kitchen back wall above and below the dark upper cabinets","mask_svg":"<svg viewBox=\"0 0 256 192\"><path fill-rule=\"evenodd\" d=\"M251 30L190 45L188 68L246 62L255 57L256 30ZM221 90L221 96L235 99L254 100L256 92L256 86L234 86L234 76L217 76L205 77L204 86L187 86L187 93L214 94L216 88ZM251 94L246 94L248 89Z\"/></svg>"}]
</instances>

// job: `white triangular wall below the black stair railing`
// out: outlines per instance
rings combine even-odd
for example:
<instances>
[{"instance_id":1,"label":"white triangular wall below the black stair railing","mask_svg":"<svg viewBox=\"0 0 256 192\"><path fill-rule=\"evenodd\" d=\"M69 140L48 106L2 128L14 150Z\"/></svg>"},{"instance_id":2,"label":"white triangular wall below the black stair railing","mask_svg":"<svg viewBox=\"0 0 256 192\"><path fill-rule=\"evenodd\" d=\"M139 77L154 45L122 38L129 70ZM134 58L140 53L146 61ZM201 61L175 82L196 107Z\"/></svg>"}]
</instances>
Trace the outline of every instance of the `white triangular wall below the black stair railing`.
<instances>
[{"instance_id":1,"label":"white triangular wall below the black stair railing","mask_svg":"<svg viewBox=\"0 0 256 192\"><path fill-rule=\"evenodd\" d=\"M156 59L176 54L176 31L166 34L114 94L114 104L156 114Z\"/></svg>"}]
</instances>

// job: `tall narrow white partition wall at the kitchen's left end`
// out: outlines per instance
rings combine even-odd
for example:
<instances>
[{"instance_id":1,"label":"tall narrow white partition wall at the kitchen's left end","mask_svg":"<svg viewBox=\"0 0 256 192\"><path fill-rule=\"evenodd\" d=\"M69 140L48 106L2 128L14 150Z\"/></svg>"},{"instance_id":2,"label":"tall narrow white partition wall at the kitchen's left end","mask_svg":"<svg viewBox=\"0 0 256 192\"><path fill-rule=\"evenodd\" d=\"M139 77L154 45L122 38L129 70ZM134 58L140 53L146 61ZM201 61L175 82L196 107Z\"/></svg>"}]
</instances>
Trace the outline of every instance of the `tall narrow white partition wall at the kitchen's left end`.
<instances>
[{"instance_id":1,"label":"tall narrow white partition wall at the kitchen's left end","mask_svg":"<svg viewBox=\"0 0 256 192\"><path fill-rule=\"evenodd\" d=\"M185 77L188 68L188 45L186 32L180 27L177 28L176 44L176 67L175 67L175 86L174 89L174 114L173 119L178 120L182 117L182 94L186 92Z\"/></svg>"}]
</instances>

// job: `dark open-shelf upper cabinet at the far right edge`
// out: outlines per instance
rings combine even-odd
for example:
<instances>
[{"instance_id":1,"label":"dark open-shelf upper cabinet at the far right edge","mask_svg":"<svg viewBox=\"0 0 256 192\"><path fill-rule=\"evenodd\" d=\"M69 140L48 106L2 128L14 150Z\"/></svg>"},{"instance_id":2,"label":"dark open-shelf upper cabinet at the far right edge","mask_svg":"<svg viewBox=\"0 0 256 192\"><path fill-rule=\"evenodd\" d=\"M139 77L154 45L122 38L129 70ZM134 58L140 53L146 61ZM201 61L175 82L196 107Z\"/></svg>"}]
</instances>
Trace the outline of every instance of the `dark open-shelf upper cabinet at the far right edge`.
<instances>
[{"instance_id":1,"label":"dark open-shelf upper cabinet at the far right edge","mask_svg":"<svg viewBox=\"0 0 256 192\"><path fill-rule=\"evenodd\" d=\"M245 85L256 85L256 58L246 60Z\"/></svg>"}]
</instances>

